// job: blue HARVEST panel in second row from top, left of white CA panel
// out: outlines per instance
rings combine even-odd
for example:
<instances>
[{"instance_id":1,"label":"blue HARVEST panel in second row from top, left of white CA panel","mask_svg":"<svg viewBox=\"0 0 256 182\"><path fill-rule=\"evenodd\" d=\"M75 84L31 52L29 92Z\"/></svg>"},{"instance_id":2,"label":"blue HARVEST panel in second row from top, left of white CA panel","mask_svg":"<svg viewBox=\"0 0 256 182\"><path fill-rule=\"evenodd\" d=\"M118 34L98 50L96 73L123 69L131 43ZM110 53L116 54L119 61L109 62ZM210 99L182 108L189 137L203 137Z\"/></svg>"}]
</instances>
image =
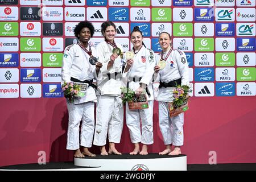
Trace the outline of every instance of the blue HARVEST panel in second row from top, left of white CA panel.
<instances>
[{"instance_id":1,"label":"blue HARVEST panel in second row from top, left of white CA panel","mask_svg":"<svg viewBox=\"0 0 256 182\"><path fill-rule=\"evenodd\" d=\"M195 8L195 22L213 22L214 9L210 8Z\"/></svg>"}]
</instances>

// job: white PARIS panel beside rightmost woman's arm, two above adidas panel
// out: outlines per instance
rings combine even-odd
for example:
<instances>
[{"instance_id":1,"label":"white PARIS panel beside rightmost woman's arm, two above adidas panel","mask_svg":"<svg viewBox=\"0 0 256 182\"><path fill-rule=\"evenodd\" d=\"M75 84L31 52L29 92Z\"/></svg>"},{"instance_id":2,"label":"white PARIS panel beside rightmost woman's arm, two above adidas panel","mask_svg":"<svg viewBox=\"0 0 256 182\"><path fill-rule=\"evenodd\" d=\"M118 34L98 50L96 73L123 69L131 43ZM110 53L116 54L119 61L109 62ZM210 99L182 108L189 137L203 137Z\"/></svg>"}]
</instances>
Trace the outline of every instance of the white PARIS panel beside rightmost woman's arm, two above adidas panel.
<instances>
[{"instance_id":1,"label":"white PARIS panel beside rightmost woman's arm, two above adidas panel","mask_svg":"<svg viewBox=\"0 0 256 182\"><path fill-rule=\"evenodd\" d=\"M196 52L195 66L196 67L213 67L214 53L213 52Z\"/></svg>"}]
</instances>

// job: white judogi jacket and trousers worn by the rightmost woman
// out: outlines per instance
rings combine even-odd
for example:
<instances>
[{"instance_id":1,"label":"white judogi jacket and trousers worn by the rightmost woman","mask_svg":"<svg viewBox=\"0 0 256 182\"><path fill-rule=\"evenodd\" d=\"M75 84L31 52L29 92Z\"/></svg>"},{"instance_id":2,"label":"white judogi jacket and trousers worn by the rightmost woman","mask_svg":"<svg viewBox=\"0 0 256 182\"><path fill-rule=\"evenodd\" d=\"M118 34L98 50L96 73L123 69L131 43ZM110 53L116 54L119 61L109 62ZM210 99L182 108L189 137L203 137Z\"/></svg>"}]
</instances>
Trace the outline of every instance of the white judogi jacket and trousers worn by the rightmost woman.
<instances>
[{"instance_id":1,"label":"white judogi jacket and trousers worn by the rightmost woman","mask_svg":"<svg viewBox=\"0 0 256 182\"><path fill-rule=\"evenodd\" d=\"M168 50L169 51L169 50ZM163 58L167 56L164 52ZM156 62L160 60L160 53L156 55ZM170 82L181 78L181 85L189 84L188 63L183 51L172 50L166 60L166 67L160 69L155 81ZM164 144L182 146L184 141L183 124L184 114L176 117L169 116L168 102L172 102L172 90L175 87L159 88L157 100L159 101L159 127L163 135Z\"/></svg>"}]
</instances>

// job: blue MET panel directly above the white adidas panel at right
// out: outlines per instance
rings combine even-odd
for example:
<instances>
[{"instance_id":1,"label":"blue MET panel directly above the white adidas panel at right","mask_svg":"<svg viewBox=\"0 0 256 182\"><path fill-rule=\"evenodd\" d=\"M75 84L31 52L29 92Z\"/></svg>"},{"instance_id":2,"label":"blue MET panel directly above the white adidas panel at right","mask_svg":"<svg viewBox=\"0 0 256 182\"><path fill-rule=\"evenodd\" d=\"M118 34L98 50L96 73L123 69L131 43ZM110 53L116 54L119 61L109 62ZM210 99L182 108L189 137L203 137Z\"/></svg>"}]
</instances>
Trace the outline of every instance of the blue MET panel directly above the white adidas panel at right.
<instances>
[{"instance_id":1,"label":"blue MET panel directly above the white adidas panel at right","mask_svg":"<svg viewBox=\"0 0 256 182\"><path fill-rule=\"evenodd\" d=\"M195 68L195 81L214 81L214 68Z\"/></svg>"}]
</instances>

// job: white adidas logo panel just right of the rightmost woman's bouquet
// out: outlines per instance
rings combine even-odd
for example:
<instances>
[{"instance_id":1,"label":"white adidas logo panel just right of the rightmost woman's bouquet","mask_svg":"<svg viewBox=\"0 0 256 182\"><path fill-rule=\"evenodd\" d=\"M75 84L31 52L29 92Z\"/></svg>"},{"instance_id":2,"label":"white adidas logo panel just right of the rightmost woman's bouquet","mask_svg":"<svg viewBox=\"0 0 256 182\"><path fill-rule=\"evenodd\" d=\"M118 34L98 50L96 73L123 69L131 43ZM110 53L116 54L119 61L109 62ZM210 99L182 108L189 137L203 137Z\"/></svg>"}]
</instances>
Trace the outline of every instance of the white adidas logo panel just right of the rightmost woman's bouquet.
<instances>
[{"instance_id":1,"label":"white adidas logo panel just right of the rightmost woman's bouquet","mask_svg":"<svg viewBox=\"0 0 256 182\"><path fill-rule=\"evenodd\" d=\"M195 83L195 96L196 97L213 97L214 96L214 83Z\"/></svg>"}]
</instances>

